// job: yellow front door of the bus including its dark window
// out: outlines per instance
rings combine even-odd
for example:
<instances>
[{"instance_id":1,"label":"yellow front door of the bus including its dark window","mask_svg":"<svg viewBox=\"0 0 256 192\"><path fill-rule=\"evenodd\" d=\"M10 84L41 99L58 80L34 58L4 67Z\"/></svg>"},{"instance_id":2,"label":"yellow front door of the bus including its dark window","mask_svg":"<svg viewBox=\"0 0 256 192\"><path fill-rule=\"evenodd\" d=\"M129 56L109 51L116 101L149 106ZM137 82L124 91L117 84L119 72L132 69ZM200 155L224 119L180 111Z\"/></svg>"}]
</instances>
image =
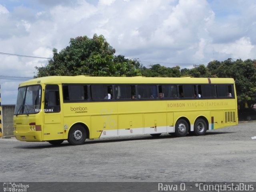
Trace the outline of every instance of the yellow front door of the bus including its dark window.
<instances>
[{"instance_id":1,"label":"yellow front door of the bus including its dark window","mask_svg":"<svg viewBox=\"0 0 256 192\"><path fill-rule=\"evenodd\" d=\"M44 129L43 138L63 139L62 110L60 109L60 89L58 85L46 85L44 90Z\"/></svg>"}]
</instances>

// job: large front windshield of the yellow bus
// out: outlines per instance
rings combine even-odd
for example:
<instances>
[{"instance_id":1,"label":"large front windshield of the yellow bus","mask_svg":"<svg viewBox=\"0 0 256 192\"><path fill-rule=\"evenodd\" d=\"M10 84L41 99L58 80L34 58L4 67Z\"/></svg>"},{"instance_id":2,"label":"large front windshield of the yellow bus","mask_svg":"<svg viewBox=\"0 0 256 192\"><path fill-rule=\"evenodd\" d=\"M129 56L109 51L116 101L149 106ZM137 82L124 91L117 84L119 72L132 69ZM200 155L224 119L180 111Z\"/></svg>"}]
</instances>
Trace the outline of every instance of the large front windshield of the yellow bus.
<instances>
[{"instance_id":1,"label":"large front windshield of the yellow bus","mask_svg":"<svg viewBox=\"0 0 256 192\"><path fill-rule=\"evenodd\" d=\"M14 115L35 114L40 110L42 88L40 85L32 85L18 88L18 98Z\"/></svg>"}]
</instances>

